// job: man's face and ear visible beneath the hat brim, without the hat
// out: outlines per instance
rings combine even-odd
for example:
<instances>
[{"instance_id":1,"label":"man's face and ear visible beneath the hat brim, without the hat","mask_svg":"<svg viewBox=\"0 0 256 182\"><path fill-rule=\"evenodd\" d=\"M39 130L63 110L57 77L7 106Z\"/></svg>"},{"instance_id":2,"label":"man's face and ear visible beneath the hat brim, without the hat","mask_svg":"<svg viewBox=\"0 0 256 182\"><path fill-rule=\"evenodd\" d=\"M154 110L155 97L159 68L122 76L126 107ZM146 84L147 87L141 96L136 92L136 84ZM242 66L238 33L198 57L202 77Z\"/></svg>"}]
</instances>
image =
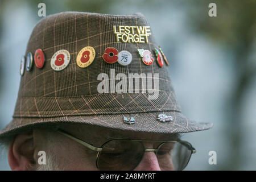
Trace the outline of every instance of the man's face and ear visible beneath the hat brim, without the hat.
<instances>
[{"instance_id":1,"label":"man's face and ear visible beneath the hat brim, without the hat","mask_svg":"<svg viewBox=\"0 0 256 182\"><path fill-rule=\"evenodd\" d=\"M101 147L102 144L112 139L177 140L179 137L177 134L167 135L155 133L139 133L81 124L61 125L60 128L72 136L96 147ZM121 144L122 147L127 147L127 140L120 140L118 143L119 145ZM134 142L132 147L135 147L136 143L138 142ZM142 144L144 148L157 148L159 146L159 142L152 141L143 141ZM170 145L173 146L172 143L170 143L169 146ZM168 145L166 144L166 146ZM138 152L138 146L131 149L131 151ZM39 151L46 152L46 164L38 163L40 158L38 155ZM9 146L9 164L13 170L97 170L97 153L98 152L90 150L75 140L60 134L56 130L35 129L16 135L16 137L13 139ZM116 159L117 157L115 155L116 154L109 154L110 159L104 160L113 161L113 158ZM102 156L101 160L103 160ZM129 161L131 159L128 157L124 160ZM166 157L166 160L168 160L168 157ZM159 164L159 162L161 163ZM160 170L163 168L162 162L163 159L159 161L159 158L156 156L155 152L145 152L143 153L143 157L139 160L139 163L135 169ZM108 165L111 169L111 165L113 164ZM123 164L115 165L122 166ZM174 167L172 164L170 164L164 169L174 169Z\"/></svg>"}]
</instances>

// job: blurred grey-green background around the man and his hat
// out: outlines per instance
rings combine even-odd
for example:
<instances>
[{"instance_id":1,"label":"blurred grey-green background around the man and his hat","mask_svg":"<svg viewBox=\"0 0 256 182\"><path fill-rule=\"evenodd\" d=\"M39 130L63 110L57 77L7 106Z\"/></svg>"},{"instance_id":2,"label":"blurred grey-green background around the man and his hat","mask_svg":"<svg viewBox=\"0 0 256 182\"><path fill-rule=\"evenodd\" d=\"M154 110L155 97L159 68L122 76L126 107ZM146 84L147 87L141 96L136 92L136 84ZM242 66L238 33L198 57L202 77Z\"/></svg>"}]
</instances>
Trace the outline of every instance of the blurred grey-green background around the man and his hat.
<instances>
[{"instance_id":1,"label":"blurred grey-green background around the man and his hat","mask_svg":"<svg viewBox=\"0 0 256 182\"><path fill-rule=\"evenodd\" d=\"M196 147L188 170L256 169L256 1L0 1L0 129L10 122L19 89L20 58L32 28L46 14L84 11L141 12L170 66L183 114L213 122L211 130L184 134ZM217 16L210 17L209 3ZM187 91L189 90L189 92ZM217 152L210 165L209 151ZM9 170L7 154L0 170Z\"/></svg>"}]
</instances>

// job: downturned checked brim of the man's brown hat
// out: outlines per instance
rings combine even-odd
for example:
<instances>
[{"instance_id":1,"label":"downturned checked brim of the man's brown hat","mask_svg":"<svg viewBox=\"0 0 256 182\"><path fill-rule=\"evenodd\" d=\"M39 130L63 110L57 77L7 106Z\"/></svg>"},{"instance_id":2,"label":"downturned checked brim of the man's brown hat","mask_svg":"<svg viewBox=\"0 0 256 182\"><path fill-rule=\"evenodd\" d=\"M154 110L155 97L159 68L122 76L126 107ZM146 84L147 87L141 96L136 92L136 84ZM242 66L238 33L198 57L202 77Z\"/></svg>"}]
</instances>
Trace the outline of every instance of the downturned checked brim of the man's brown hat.
<instances>
[{"instance_id":1,"label":"downturned checked brim of the man's brown hat","mask_svg":"<svg viewBox=\"0 0 256 182\"><path fill-rule=\"evenodd\" d=\"M158 114L166 114L174 117L173 121L160 122ZM123 122L123 117L134 117L134 124ZM13 118L13 121L0 131L0 137L19 133L24 129L35 127L51 127L60 123L84 123L88 125L102 126L110 129L140 131L148 133L190 133L193 131L208 130L213 123L197 123L184 117L176 111L162 111L134 114L104 114L104 115L77 115L54 118Z\"/></svg>"}]
</instances>

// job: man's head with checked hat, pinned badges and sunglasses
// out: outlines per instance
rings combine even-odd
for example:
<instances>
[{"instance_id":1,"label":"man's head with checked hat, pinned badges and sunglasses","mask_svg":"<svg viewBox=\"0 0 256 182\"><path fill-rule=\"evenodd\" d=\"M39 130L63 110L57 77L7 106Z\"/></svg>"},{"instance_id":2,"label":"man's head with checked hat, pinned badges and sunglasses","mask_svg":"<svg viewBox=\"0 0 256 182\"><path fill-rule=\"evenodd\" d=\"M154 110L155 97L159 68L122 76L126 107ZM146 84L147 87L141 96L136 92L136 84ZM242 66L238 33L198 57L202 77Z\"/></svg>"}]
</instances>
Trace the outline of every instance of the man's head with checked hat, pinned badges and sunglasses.
<instances>
[{"instance_id":1,"label":"man's head with checked hat, pinned badges and sunglasses","mask_svg":"<svg viewBox=\"0 0 256 182\"><path fill-rule=\"evenodd\" d=\"M25 55L13 119L0 131L20 131L11 169L181 170L195 150L177 133L213 126L181 113L167 57L140 13L49 15Z\"/></svg>"}]
</instances>

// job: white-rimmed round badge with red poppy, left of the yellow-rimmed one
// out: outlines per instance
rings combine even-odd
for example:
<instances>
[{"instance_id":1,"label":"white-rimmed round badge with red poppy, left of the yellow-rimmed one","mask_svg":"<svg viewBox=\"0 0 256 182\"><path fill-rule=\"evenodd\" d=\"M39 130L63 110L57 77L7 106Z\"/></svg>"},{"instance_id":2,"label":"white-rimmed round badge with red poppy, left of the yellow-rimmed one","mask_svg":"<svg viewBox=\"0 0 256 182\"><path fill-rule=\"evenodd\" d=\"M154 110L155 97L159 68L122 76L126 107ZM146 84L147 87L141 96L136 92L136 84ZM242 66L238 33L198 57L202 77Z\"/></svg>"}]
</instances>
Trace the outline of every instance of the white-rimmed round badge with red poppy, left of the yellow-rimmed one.
<instances>
[{"instance_id":1,"label":"white-rimmed round badge with red poppy, left of the yellow-rimmed one","mask_svg":"<svg viewBox=\"0 0 256 182\"><path fill-rule=\"evenodd\" d=\"M54 53L51 59L51 67L55 71L61 71L66 68L70 61L70 53L65 50L59 50Z\"/></svg>"}]
</instances>

